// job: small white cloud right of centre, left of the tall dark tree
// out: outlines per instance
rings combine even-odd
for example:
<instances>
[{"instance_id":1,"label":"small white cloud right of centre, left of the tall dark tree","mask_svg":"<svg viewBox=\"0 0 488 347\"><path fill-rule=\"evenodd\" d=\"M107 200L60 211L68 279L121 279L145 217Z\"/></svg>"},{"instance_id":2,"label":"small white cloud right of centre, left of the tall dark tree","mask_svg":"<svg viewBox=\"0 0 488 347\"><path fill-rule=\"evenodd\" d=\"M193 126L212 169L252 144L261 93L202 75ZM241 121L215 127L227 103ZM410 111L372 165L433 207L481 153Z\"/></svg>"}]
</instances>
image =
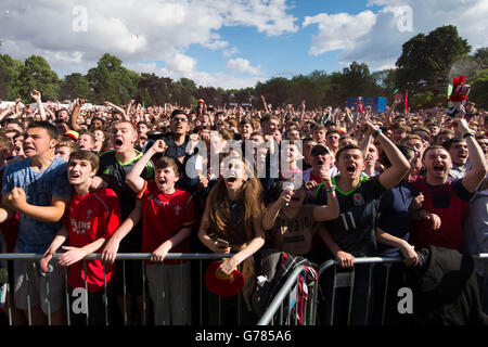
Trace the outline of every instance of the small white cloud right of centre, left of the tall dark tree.
<instances>
[{"instance_id":1,"label":"small white cloud right of centre, left of the tall dark tree","mask_svg":"<svg viewBox=\"0 0 488 347\"><path fill-rule=\"evenodd\" d=\"M371 31L376 23L376 16L371 11L357 15L348 13L306 16L304 27L319 25L319 34L312 37L309 53L319 55L335 50L352 50L358 39Z\"/></svg>"}]
</instances>

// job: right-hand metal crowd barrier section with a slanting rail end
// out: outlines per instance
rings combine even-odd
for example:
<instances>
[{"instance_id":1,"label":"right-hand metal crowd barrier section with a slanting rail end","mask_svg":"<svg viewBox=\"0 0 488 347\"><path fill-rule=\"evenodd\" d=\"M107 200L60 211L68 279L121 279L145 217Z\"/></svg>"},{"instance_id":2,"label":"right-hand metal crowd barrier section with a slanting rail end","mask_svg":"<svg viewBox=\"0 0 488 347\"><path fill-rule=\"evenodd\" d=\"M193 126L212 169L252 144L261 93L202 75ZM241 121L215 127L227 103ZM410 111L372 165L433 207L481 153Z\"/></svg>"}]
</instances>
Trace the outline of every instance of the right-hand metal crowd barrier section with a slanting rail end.
<instances>
[{"instance_id":1,"label":"right-hand metal crowd barrier section with a slanting rail end","mask_svg":"<svg viewBox=\"0 0 488 347\"><path fill-rule=\"evenodd\" d=\"M473 256L474 259L480 259L484 261L488 261L488 254L479 254L476 256ZM349 287L349 300L348 300L348 307L347 307L347 324L350 324L351 320L351 309L352 309L352 295L354 295L354 287L355 287L355 273L356 273L356 267L361 265L369 265L369 274L368 274L368 294L367 294L367 306L364 312L364 322L371 323L370 321L370 300L371 300L371 283L372 283L372 275L373 275L373 267L375 265L382 264L386 266L386 278L385 278L385 286L384 286L384 300L382 305L382 317L381 317L381 325L385 324L385 309L386 309L386 298L387 298L387 291L389 285L389 275L390 275L390 267L395 262L401 262L402 259L400 258L387 258L387 257L369 257L369 258L356 258L355 260L355 267L352 267L351 271L349 272L337 272L338 261L337 260L328 260L324 264L322 264L319 269L319 279L322 277L322 274L326 270L333 271L333 279L332 279L332 295L331 296L331 306L330 306L330 312L329 312L329 321L328 322L320 322L318 320L318 305L319 300L321 299L318 295L319 284L312 283L312 295L309 295L307 300L307 314L305 314L304 325L316 325L316 324L323 324L323 325L334 325L334 310L335 310L335 295L337 288L345 288ZM270 324L279 324L279 325L291 325L296 324L296 320L293 321L290 317L283 317L283 311L290 313L291 310L290 305L292 303L291 295L296 290L297 286L297 280L300 274L305 274L305 267L298 267L296 268L287 278L281 290L277 293L273 300L271 301L270 306L267 308L265 313L261 316L259 321L257 322L258 325L270 325ZM320 281L320 280L319 280ZM487 284L487 274L485 274L485 278L483 280L484 286L483 291L480 292L480 300L481 306L488 304L488 297L485 297L486 293L486 284ZM280 313L278 311L280 310ZM278 317L278 321L277 318Z\"/></svg>"}]
</instances>

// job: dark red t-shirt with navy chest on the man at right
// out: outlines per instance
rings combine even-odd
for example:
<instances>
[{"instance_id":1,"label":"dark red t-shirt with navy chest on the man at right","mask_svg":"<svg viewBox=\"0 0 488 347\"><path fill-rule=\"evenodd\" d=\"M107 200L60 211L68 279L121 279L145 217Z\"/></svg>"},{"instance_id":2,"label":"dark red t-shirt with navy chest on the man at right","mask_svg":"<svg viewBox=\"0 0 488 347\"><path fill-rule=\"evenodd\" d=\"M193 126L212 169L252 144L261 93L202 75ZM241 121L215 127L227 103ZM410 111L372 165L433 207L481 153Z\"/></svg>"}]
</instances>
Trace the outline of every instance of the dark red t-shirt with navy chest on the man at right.
<instances>
[{"instance_id":1,"label":"dark red t-shirt with navy chest on the man at right","mask_svg":"<svg viewBox=\"0 0 488 347\"><path fill-rule=\"evenodd\" d=\"M424 195L422 208L436 214L441 220L438 230L433 230L431 222L415 223L411 234L415 247L433 245L462 250L462 222L473 194L464 189L461 179L449 178L442 185L431 185L424 177L416 176L410 182Z\"/></svg>"}]
</instances>

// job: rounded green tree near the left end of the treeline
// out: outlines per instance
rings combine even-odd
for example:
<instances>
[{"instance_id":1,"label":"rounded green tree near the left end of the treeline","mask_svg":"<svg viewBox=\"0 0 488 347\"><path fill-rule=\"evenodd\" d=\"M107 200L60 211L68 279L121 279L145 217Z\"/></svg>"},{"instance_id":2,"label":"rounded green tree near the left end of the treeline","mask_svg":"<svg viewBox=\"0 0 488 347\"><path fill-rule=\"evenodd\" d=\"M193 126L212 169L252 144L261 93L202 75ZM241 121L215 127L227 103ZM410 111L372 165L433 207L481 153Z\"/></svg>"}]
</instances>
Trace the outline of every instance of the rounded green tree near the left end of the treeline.
<instances>
[{"instance_id":1,"label":"rounded green tree near the left end of the treeline","mask_svg":"<svg viewBox=\"0 0 488 347\"><path fill-rule=\"evenodd\" d=\"M18 93L25 102L31 102L30 91L41 92L43 101L57 100L60 79L48 62L39 55L31 55L24 62L18 75Z\"/></svg>"}]
</instances>

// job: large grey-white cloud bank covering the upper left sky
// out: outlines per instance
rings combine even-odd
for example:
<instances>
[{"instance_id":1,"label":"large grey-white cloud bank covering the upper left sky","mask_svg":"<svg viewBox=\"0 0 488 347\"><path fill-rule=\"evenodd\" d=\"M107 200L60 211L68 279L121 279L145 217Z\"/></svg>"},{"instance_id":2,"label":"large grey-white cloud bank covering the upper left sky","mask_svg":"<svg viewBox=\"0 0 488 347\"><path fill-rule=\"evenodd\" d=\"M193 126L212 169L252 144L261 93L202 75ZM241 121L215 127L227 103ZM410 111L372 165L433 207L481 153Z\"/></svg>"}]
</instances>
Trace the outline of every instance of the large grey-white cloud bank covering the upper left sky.
<instances>
[{"instance_id":1,"label":"large grey-white cloud bank covering the upper left sky","mask_svg":"<svg viewBox=\"0 0 488 347\"><path fill-rule=\"evenodd\" d=\"M110 52L125 66L158 62L168 75L197 76L197 56L188 53L191 46L220 50L227 57L239 51L220 37L224 26L254 27L266 36L297 31L296 18L285 2L2 0L1 8L9 13L0 16L1 51L21 60L40 54L62 74L85 73L95 66L102 53ZM76 7L86 10L86 18L74 13ZM74 30L74 22L80 21L86 30Z\"/></svg>"}]
</instances>

